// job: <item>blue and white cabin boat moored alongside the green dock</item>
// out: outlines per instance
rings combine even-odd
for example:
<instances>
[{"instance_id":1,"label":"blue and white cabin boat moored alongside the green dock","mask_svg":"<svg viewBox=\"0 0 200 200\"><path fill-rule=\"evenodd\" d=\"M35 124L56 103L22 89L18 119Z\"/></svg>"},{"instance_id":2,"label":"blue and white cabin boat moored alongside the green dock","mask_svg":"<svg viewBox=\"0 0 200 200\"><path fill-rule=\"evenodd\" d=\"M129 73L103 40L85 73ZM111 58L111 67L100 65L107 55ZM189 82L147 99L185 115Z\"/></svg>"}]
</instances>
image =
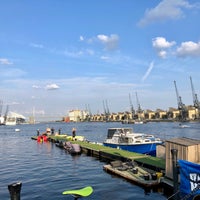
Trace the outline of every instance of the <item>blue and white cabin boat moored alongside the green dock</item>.
<instances>
[{"instance_id":1,"label":"blue and white cabin boat moored alongside the green dock","mask_svg":"<svg viewBox=\"0 0 200 200\"><path fill-rule=\"evenodd\" d=\"M156 156L160 138L145 133L134 133L132 128L109 128L104 146Z\"/></svg>"}]
</instances>

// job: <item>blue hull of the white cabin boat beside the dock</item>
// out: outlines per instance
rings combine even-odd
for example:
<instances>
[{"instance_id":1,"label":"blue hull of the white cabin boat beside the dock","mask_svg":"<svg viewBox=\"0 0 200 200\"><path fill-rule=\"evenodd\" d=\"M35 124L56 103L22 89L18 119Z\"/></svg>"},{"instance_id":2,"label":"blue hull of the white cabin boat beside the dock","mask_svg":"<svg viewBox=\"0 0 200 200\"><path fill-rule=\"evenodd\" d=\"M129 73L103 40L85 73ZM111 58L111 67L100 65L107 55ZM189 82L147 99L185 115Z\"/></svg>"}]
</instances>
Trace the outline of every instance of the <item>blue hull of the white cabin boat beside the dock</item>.
<instances>
[{"instance_id":1,"label":"blue hull of the white cabin boat beside the dock","mask_svg":"<svg viewBox=\"0 0 200 200\"><path fill-rule=\"evenodd\" d=\"M135 153L148 154L151 156L156 156L156 146L157 143L149 144L112 144L112 143L103 143L104 146L122 149L126 151L131 151Z\"/></svg>"}]
</instances>

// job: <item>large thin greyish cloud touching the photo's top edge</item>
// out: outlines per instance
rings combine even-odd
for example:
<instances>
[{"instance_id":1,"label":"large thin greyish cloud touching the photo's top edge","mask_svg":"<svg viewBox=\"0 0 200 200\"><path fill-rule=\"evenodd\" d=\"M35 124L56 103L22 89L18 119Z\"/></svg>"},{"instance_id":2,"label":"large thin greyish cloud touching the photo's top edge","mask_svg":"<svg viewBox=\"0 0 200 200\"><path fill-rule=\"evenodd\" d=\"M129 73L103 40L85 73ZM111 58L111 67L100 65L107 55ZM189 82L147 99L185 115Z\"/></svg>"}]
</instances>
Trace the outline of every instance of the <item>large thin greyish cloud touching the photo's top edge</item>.
<instances>
[{"instance_id":1,"label":"large thin greyish cloud touching the photo's top edge","mask_svg":"<svg viewBox=\"0 0 200 200\"><path fill-rule=\"evenodd\" d=\"M183 9L198 7L187 0L163 0L155 8L145 11L144 17L139 21L140 26L145 26L157 21L176 20L184 17Z\"/></svg>"}]
</instances>

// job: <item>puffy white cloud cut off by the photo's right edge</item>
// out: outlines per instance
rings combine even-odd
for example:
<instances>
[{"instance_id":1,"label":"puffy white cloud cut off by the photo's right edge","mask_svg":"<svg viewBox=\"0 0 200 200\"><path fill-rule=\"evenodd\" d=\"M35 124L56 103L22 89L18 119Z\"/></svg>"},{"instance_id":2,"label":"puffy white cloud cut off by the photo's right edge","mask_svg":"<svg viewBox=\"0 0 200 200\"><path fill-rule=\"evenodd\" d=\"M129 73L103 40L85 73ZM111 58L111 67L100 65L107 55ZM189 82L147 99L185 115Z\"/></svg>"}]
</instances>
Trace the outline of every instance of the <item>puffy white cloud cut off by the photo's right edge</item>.
<instances>
[{"instance_id":1,"label":"puffy white cloud cut off by the photo's right edge","mask_svg":"<svg viewBox=\"0 0 200 200\"><path fill-rule=\"evenodd\" d=\"M198 56L200 57L200 42L195 43L192 41L182 42L181 46L177 48L177 56Z\"/></svg>"}]
</instances>

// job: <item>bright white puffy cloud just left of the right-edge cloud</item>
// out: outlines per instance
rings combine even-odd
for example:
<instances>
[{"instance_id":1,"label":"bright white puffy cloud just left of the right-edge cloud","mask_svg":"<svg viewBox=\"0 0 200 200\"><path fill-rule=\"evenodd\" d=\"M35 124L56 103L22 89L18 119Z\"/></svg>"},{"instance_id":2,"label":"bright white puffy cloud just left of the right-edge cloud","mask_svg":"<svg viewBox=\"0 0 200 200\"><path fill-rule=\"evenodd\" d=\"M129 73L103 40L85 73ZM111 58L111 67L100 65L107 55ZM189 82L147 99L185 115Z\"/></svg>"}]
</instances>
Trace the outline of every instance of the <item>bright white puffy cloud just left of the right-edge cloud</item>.
<instances>
[{"instance_id":1,"label":"bright white puffy cloud just left of the right-edge cloud","mask_svg":"<svg viewBox=\"0 0 200 200\"><path fill-rule=\"evenodd\" d=\"M156 37L152 40L152 46L156 49L158 56L161 58L166 58L166 50L171 48L175 44L175 41L169 42L164 37Z\"/></svg>"}]
</instances>

